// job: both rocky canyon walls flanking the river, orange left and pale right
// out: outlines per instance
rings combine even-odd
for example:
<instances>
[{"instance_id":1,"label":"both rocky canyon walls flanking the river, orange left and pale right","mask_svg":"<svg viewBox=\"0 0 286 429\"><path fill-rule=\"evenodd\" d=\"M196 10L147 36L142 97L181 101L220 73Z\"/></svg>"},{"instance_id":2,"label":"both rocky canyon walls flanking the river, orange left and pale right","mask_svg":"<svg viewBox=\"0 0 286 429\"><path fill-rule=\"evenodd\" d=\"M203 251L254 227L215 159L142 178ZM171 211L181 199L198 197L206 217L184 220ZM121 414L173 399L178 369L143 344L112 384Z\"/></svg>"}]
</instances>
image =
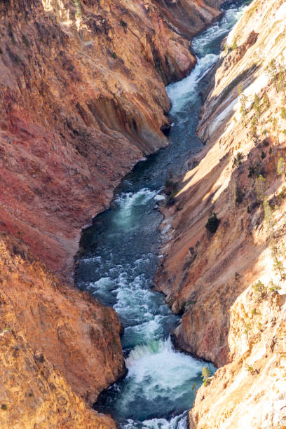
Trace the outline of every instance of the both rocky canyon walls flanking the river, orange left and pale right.
<instances>
[{"instance_id":1,"label":"both rocky canyon walls flanking the river, orange left and pale right","mask_svg":"<svg viewBox=\"0 0 286 429\"><path fill-rule=\"evenodd\" d=\"M223 3L1 1L4 428L116 428L92 406L126 373L123 327L74 287L74 257L133 165L168 146L165 86L195 67L191 39ZM253 0L224 41L203 76L205 147L161 206L175 346L218 367L191 429L286 427L285 22L284 1Z\"/></svg>"}]
</instances>

